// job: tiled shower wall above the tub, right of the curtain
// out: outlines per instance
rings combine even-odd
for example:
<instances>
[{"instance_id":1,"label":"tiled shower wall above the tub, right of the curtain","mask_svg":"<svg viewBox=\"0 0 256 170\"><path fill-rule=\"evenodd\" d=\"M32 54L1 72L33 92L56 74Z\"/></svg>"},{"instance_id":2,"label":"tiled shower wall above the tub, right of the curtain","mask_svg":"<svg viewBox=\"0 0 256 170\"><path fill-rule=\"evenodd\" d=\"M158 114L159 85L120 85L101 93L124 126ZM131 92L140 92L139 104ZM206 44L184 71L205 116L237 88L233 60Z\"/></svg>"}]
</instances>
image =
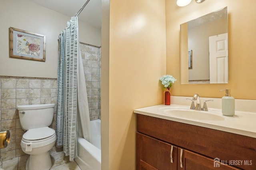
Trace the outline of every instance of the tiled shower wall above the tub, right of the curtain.
<instances>
[{"instance_id":1,"label":"tiled shower wall above the tub, right of the curtain","mask_svg":"<svg viewBox=\"0 0 256 170\"><path fill-rule=\"evenodd\" d=\"M101 119L101 47L80 42L88 96L90 120Z\"/></svg>"}]
</instances>

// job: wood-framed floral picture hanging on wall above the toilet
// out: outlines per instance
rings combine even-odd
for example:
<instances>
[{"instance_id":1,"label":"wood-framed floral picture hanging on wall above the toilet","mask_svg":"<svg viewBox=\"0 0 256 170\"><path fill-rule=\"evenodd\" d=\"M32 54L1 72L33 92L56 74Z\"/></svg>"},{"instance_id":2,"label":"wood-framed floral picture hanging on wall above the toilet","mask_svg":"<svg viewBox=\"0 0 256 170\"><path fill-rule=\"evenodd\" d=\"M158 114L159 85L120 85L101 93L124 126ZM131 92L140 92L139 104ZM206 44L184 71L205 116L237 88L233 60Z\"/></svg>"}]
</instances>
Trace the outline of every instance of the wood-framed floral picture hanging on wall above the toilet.
<instances>
[{"instance_id":1,"label":"wood-framed floral picture hanging on wall above the toilet","mask_svg":"<svg viewBox=\"0 0 256 170\"><path fill-rule=\"evenodd\" d=\"M46 36L10 27L9 40L10 57L45 61Z\"/></svg>"}]
</instances>

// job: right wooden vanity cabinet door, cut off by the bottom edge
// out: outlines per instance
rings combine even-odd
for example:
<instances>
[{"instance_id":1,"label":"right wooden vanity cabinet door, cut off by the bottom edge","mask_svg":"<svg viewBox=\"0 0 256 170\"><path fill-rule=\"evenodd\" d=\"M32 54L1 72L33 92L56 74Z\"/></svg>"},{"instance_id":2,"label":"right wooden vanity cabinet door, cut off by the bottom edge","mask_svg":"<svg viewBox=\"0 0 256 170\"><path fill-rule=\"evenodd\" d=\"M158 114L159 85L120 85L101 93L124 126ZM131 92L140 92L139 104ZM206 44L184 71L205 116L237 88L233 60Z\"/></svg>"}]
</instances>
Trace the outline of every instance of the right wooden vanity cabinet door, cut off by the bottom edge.
<instances>
[{"instance_id":1,"label":"right wooden vanity cabinet door, cut off by the bottom edge","mask_svg":"<svg viewBox=\"0 0 256 170\"><path fill-rule=\"evenodd\" d=\"M178 148L178 170L239 170L188 150Z\"/></svg>"}]
</instances>

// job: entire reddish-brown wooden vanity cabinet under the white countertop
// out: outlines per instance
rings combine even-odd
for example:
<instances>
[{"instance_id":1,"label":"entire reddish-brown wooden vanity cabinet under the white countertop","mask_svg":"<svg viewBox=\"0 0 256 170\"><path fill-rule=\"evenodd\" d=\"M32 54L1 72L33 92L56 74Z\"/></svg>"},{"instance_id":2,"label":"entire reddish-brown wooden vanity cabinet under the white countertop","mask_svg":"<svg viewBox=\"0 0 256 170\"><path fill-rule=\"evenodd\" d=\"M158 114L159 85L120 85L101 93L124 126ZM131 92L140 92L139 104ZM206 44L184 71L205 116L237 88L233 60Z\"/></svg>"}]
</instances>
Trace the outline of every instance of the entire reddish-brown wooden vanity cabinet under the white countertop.
<instances>
[{"instance_id":1,"label":"entire reddish-brown wooden vanity cabinet under the white countertop","mask_svg":"<svg viewBox=\"0 0 256 170\"><path fill-rule=\"evenodd\" d=\"M137 114L136 166L137 170L255 170L256 139Z\"/></svg>"}]
</instances>

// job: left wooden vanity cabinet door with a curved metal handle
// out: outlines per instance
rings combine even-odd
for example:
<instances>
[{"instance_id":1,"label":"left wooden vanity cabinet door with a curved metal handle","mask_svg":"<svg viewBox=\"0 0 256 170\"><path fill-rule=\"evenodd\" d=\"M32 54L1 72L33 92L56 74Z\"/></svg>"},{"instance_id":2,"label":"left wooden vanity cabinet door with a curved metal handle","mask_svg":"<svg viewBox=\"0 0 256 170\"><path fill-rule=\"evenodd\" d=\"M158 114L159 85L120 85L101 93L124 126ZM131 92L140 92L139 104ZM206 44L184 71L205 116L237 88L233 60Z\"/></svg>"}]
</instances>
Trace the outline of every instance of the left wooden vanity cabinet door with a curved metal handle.
<instances>
[{"instance_id":1,"label":"left wooden vanity cabinet door with a curved metal handle","mask_svg":"<svg viewBox=\"0 0 256 170\"><path fill-rule=\"evenodd\" d=\"M136 133L137 170L176 170L177 147Z\"/></svg>"}]
</instances>

